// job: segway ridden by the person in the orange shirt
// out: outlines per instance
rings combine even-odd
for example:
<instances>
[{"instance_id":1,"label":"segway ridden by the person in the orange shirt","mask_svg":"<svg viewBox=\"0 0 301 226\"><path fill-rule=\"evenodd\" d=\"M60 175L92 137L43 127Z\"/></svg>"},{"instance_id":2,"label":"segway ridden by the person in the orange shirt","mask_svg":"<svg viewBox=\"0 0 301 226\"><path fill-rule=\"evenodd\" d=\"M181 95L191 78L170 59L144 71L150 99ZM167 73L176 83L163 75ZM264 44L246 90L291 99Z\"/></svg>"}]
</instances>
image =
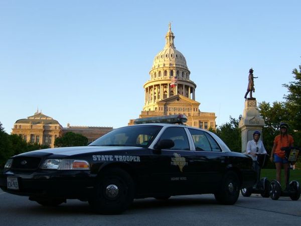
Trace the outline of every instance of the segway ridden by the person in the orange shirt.
<instances>
[{"instance_id":1,"label":"segway ridden by the person in the orange shirt","mask_svg":"<svg viewBox=\"0 0 301 226\"><path fill-rule=\"evenodd\" d=\"M298 155L300 154L301 148L297 147L283 147L281 151L285 151L285 158L288 163L291 164L297 161ZM277 180L272 180L269 186L269 196L273 200L277 200L280 196L290 197L291 200L298 200L300 197L301 189L298 181L293 180L289 182L289 171L287 170L287 181L285 190L282 191L281 184ZM288 183L289 182L289 183Z\"/></svg>"}]
</instances>

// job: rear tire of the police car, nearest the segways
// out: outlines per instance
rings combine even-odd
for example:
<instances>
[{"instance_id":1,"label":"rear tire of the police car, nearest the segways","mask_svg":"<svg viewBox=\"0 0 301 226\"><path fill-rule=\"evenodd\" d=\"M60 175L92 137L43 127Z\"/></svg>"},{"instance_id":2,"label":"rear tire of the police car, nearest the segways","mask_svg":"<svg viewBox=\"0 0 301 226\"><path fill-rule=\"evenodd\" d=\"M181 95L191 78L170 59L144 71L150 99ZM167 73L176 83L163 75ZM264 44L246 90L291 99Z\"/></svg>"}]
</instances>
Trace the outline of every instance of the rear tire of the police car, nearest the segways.
<instances>
[{"instance_id":1,"label":"rear tire of the police car, nearest the segways","mask_svg":"<svg viewBox=\"0 0 301 226\"><path fill-rule=\"evenodd\" d=\"M225 205L233 205L239 196L240 182L238 176L233 171L228 171L222 180L219 191L214 196L215 199Z\"/></svg>"}]
</instances>

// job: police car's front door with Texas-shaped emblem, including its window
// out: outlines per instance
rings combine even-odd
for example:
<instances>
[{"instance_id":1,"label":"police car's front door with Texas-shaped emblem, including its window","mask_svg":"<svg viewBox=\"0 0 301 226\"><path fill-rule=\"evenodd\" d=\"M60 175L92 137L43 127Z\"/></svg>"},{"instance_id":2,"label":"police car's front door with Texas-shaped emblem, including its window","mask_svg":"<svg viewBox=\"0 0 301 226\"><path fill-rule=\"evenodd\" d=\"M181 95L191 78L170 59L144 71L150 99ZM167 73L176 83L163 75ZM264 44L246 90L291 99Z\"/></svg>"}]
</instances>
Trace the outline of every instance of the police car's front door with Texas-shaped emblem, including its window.
<instances>
[{"instance_id":1,"label":"police car's front door with Texas-shaped emblem, including its window","mask_svg":"<svg viewBox=\"0 0 301 226\"><path fill-rule=\"evenodd\" d=\"M172 148L153 151L154 168L151 179L157 192L183 194L188 189L190 177L189 159L193 156L186 130L183 127L168 127L161 140L172 140ZM157 142L157 143L158 143Z\"/></svg>"}]
</instances>

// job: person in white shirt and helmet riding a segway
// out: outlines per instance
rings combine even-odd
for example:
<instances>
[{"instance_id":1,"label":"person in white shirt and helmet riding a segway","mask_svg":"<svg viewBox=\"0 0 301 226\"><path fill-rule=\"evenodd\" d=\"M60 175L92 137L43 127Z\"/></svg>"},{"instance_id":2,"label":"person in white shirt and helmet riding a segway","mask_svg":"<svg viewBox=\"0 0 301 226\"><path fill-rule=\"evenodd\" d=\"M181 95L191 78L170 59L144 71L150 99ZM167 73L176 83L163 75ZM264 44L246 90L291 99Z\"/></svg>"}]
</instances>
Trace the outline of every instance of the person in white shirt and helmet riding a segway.
<instances>
[{"instance_id":1,"label":"person in white shirt and helmet riding a segway","mask_svg":"<svg viewBox=\"0 0 301 226\"><path fill-rule=\"evenodd\" d=\"M260 132L259 131L254 131L253 133L253 140L248 141L247 143L247 155L250 156L253 159L253 168L257 172L257 182L259 181L260 177L260 166L257 162L257 154L267 154L266 150L263 146L262 141L259 140L260 138Z\"/></svg>"}]
</instances>

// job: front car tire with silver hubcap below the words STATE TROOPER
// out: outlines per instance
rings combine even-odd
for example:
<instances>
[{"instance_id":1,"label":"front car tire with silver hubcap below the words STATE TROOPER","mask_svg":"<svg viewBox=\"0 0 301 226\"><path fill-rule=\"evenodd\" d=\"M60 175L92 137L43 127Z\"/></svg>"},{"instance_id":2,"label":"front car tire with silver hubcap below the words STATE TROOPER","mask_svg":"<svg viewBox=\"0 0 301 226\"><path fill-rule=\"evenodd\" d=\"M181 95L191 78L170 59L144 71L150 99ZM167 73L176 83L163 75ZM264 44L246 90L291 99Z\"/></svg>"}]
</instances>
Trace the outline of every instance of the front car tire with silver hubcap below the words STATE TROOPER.
<instances>
[{"instance_id":1,"label":"front car tire with silver hubcap below the words STATE TROOPER","mask_svg":"<svg viewBox=\"0 0 301 226\"><path fill-rule=\"evenodd\" d=\"M134 198L134 181L119 168L101 172L88 202L94 211L101 214L119 214L126 210Z\"/></svg>"}]
</instances>

